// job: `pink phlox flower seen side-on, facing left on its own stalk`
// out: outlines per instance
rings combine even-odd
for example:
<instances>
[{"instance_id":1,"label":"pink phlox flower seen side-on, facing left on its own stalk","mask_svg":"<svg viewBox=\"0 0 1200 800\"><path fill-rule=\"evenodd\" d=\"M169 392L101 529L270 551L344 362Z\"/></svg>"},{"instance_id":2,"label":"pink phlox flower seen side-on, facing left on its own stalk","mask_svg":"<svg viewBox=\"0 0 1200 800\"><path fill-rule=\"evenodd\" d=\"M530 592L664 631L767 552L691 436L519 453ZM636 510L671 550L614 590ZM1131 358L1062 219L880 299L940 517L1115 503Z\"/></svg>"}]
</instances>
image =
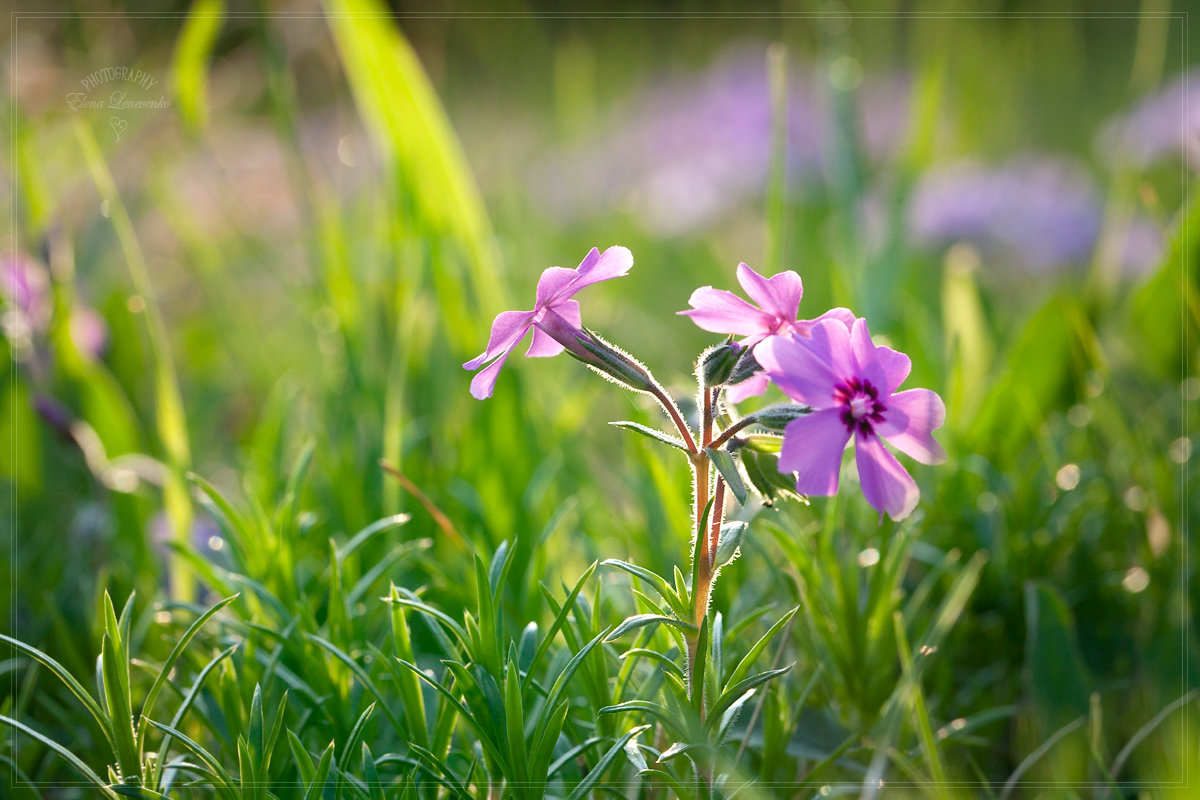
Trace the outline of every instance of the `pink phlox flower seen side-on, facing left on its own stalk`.
<instances>
[{"instance_id":1,"label":"pink phlox flower seen side-on, facing left on its own stalk","mask_svg":"<svg viewBox=\"0 0 1200 800\"><path fill-rule=\"evenodd\" d=\"M530 330L533 342L526 351L527 356L546 357L562 353L565 348L558 338L564 336L564 331L578 330L583 324L580 303L572 297L580 289L593 283L619 278L632 266L634 254L625 247L613 246L604 253L593 247L574 270L552 266L544 271L538 279L533 311L505 311L498 314L492 321L487 349L462 365L464 369L479 369L487 365L470 381L472 397L486 399L492 396L500 367Z\"/></svg>"}]
</instances>

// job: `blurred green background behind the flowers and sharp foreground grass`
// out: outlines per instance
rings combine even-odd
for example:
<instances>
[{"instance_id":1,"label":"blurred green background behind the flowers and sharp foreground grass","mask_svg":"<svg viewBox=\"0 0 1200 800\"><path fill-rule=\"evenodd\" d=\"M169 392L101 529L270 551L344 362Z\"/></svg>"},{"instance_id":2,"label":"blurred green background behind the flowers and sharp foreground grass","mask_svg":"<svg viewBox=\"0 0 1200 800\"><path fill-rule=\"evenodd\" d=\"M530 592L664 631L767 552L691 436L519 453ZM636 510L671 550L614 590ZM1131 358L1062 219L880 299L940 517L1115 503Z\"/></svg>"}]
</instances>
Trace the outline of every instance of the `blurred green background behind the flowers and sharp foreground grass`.
<instances>
[{"instance_id":1,"label":"blurred green background behind the flowers and sharp foreground grass","mask_svg":"<svg viewBox=\"0 0 1200 800\"><path fill-rule=\"evenodd\" d=\"M950 459L912 465L923 498L899 590L988 557L926 679L941 723L972 720L955 740L972 780L1003 781L1078 714L1111 756L1164 709L1121 777L1180 780L1186 759L1195 774L1200 73L1186 11L199 0L17 14L0 199L6 632L85 675L106 587L192 601L206 570L271 585L274 551L232 552L190 473L264 519L293 503L301 565L410 512L355 569L431 537L385 575L448 608L468 596L464 548L514 537L516 619L539 613L538 579L572 583L596 558L684 564L686 465L606 425L658 425L654 408L566 359L514 357L480 403L460 366L496 313L530 307L542 269L619 243L635 267L588 291L584 324L678 395L713 337L674 312L698 285L736 289L746 261L799 271L802 317L868 317L912 356L908 385L946 398ZM827 555L865 570L895 527L845 488L840 503ZM769 525L718 606L817 591L834 566L797 559L816 558L826 507L758 513ZM306 575L322 596L319 570ZM364 602L370 637L384 612ZM838 643L805 630L808 675ZM169 640L156 636L149 649ZM894 643L880 652L858 669L894 684ZM878 714L892 684L852 672L827 666L804 735L838 741ZM68 724L5 684L43 727ZM1081 781L1086 763L1038 769Z\"/></svg>"}]
</instances>

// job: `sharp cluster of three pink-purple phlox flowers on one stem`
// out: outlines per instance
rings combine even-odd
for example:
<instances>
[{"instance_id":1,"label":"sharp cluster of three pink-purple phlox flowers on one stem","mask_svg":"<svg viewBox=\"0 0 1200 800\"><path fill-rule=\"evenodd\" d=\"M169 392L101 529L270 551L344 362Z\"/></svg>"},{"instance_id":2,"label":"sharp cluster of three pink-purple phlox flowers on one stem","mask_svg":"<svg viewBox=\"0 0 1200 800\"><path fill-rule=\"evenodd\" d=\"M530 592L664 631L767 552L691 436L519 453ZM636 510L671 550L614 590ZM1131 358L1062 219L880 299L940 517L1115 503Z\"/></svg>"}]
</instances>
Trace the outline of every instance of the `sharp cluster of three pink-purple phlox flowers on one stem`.
<instances>
[{"instance_id":1,"label":"sharp cluster of three pink-purple phlox flowers on one stem","mask_svg":"<svg viewBox=\"0 0 1200 800\"><path fill-rule=\"evenodd\" d=\"M542 272L533 311L499 314L492 324L487 349L463 365L467 369L482 367L472 380L472 395L480 399L491 397L509 353L532 330L534 337L527 355L557 355L566 349L619 383L654 395L676 423L679 443L694 463L712 457L731 489L740 483L740 477L730 474L730 461L714 451L722 445L733 450L738 444L733 434L749 425L770 428L773 420L784 420L775 469L792 476L797 493L836 494L842 455L853 440L863 494L880 518L884 512L893 519L912 513L920 497L917 483L886 445L924 464L944 461L946 452L932 432L944 422L946 407L928 389L899 391L911 369L908 356L876 345L866 320L848 308L802 319L804 285L794 271L768 278L739 264L738 282L754 302L731 291L701 287L691 295L691 308L679 312L706 331L739 337L737 342L731 338L725 353L710 359L713 362L724 359L727 363L724 372L707 367L698 371L704 410L700 429L692 432L676 403L644 367L582 327L575 294L593 283L625 275L632 263L628 249L610 247L604 253L593 249L575 270L556 266ZM733 356L726 359L726 353ZM720 379L713 380L718 372ZM726 432L713 432L719 396L724 393L726 402L739 403L762 395L770 384L792 403L782 411L775 405L761 414L751 413ZM718 497L722 497L721 479L718 479Z\"/></svg>"}]
</instances>

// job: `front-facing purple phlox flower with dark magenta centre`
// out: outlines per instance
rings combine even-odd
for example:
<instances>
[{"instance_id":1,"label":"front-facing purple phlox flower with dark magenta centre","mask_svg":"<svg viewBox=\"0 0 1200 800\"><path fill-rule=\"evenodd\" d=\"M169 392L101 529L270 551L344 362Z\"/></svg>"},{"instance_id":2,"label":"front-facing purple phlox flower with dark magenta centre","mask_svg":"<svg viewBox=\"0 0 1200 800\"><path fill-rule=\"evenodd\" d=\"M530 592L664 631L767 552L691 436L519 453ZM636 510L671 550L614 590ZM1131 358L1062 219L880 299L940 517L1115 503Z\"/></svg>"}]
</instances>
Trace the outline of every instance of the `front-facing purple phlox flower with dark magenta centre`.
<instances>
[{"instance_id":1,"label":"front-facing purple phlox flower with dark magenta centre","mask_svg":"<svg viewBox=\"0 0 1200 800\"><path fill-rule=\"evenodd\" d=\"M942 398L928 389L896 392L912 362L902 353L876 347L865 319L852 327L840 320L812 324L811 336L775 336L756 356L775 384L812 411L787 425L779 470L796 473L796 491L838 493L841 455L853 437L863 494L880 512L904 519L920 492L884 441L923 464L946 459L932 432L946 421Z\"/></svg>"}]
</instances>

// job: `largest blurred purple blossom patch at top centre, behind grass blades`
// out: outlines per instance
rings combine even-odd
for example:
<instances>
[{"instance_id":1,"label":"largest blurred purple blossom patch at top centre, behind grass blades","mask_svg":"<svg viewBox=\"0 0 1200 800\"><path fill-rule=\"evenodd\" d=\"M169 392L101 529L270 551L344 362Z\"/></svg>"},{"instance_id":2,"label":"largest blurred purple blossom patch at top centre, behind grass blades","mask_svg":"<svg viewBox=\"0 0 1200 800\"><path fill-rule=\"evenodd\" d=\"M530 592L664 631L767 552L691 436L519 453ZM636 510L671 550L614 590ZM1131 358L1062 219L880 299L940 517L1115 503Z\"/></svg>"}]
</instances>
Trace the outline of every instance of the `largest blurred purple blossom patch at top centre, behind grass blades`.
<instances>
[{"instance_id":1,"label":"largest blurred purple blossom patch at top centre, behind grass blades","mask_svg":"<svg viewBox=\"0 0 1200 800\"><path fill-rule=\"evenodd\" d=\"M869 158L886 158L906 130L906 82L864 85L860 138ZM818 76L793 68L787 78L787 175L821 179L832 134ZM654 84L610 115L572 149L539 154L534 196L560 219L613 207L658 233L677 235L758 198L770 170L770 88L766 56L738 48L708 70Z\"/></svg>"}]
</instances>

